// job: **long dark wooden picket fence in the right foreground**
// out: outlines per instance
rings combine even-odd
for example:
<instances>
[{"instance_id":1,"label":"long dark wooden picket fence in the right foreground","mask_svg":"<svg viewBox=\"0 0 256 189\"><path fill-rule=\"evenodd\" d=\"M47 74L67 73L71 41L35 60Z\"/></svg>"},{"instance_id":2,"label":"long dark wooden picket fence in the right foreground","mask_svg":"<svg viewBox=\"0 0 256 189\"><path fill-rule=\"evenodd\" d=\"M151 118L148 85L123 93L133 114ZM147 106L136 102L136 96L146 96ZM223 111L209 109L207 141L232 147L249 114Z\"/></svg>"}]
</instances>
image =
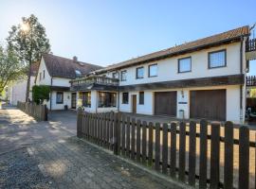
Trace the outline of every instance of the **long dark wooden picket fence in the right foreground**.
<instances>
[{"instance_id":1,"label":"long dark wooden picket fence in the right foreground","mask_svg":"<svg viewBox=\"0 0 256 189\"><path fill-rule=\"evenodd\" d=\"M255 141L249 134L231 122L153 124L113 112L80 111L77 120L78 137L199 188L255 187L249 168L255 170Z\"/></svg>"}]
</instances>

